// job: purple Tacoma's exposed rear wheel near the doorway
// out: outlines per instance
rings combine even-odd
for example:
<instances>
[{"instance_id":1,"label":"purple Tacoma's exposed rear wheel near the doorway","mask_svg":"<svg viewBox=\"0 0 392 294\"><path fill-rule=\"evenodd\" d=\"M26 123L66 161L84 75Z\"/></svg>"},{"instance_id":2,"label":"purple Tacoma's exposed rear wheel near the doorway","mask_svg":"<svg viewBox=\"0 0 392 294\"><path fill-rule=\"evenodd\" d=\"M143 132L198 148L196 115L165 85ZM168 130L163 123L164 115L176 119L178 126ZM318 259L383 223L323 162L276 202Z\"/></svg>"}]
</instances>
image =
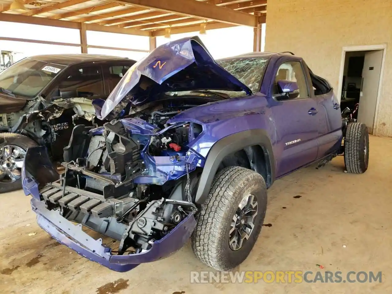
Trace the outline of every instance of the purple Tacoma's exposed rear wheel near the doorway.
<instances>
[{"instance_id":1,"label":"purple Tacoma's exposed rear wheel near the doorway","mask_svg":"<svg viewBox=\"0 0 392 294\"><path fill-rule=\"evenodd\" d=\"M362 174L367 170L369 134L365 123L349 123L347 125L344 140L344 163L347 171L353 174Z\"/></svg>"}]
</instances>

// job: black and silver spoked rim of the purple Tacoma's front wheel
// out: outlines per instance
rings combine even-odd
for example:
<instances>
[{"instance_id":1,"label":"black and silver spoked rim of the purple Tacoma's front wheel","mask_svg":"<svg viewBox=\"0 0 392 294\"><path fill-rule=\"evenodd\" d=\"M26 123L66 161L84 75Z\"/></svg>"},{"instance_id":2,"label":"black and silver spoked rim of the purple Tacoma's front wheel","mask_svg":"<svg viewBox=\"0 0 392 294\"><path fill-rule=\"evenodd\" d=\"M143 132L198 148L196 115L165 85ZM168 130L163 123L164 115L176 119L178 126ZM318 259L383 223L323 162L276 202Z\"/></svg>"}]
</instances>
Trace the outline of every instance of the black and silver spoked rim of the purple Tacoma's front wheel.
<instances>
[{"instance_id":1,"label":"black and silver spoked rim of the purple Tacoma's front wheel","mask_svg":"<svg viewBox=\"0 0 392 294\"><path fill-rule=\"evenodd\" d=\"M252 234L258 205L256 196L244 196L234 213L229 231L229 246L231 250L241 249L244 241Z\"/></svg>"}]
</instances>

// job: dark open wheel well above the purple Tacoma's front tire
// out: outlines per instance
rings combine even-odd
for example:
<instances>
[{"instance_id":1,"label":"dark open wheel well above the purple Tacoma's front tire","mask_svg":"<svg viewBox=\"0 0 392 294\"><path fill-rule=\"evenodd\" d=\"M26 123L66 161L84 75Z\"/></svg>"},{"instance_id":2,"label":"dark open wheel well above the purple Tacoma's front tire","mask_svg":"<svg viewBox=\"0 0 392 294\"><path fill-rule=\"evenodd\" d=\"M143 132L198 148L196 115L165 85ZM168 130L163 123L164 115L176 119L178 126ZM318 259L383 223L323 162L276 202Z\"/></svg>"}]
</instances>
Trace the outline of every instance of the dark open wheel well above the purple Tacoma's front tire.
<instances>
[{"instance_id":1,"label":"dark open wheel well above the purple Tacoma's front tire","mask_svg":"<svg viewBox=\"0 0 392 294\"><path fill-rule=\"evenodd\" d=\"M272 184L271 166L267 149L260 145L252 145L232 152L223 158L217 172L229 166L240 166L258 172L263 176L267 187Z\"/></svg>"}]
</instances>

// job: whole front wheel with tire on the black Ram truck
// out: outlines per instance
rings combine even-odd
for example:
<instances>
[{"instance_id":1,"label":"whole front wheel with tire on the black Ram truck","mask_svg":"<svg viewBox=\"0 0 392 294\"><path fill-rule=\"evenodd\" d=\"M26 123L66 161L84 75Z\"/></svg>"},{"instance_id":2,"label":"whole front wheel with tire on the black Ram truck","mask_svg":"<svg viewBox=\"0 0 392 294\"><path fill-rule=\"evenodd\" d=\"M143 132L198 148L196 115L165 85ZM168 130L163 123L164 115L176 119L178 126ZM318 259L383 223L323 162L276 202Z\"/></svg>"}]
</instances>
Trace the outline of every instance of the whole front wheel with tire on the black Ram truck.
<instances>
[{"instance_id":1,"label":"whole front wheel with tire on the black Ram truck","mask_svg":"<svg viewBox=\"0 0 392 294\"><path fill-rule=\"evenodd\" d=\"M27 148L38 145L29 137L15 133L1 133L0 142L0 193L21 189Z\"/></svg>"}]
</instances>

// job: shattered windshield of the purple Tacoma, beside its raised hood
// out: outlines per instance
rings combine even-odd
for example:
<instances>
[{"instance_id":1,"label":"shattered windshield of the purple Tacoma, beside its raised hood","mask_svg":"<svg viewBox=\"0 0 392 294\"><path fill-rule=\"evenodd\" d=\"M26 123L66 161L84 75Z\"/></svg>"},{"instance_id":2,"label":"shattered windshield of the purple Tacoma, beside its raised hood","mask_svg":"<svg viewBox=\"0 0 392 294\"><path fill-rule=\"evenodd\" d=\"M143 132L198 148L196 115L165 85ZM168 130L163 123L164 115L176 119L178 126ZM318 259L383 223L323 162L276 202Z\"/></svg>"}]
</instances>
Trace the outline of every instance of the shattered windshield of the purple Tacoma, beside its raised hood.
<instances>
[{"instance_id":1,"label":"shattered windshield of the purple Tacoma, beside its raised hood","mask_svg":"<svg viewBox=\"0 0 392 294\"><path fill-rule=\"evenodd\" d=\"M256 93L260 91L260 83L263 79L268 60L269 57L241 57L216 60L216 62L247 85L253 93Z\"/></svg>"}]
</instances>

